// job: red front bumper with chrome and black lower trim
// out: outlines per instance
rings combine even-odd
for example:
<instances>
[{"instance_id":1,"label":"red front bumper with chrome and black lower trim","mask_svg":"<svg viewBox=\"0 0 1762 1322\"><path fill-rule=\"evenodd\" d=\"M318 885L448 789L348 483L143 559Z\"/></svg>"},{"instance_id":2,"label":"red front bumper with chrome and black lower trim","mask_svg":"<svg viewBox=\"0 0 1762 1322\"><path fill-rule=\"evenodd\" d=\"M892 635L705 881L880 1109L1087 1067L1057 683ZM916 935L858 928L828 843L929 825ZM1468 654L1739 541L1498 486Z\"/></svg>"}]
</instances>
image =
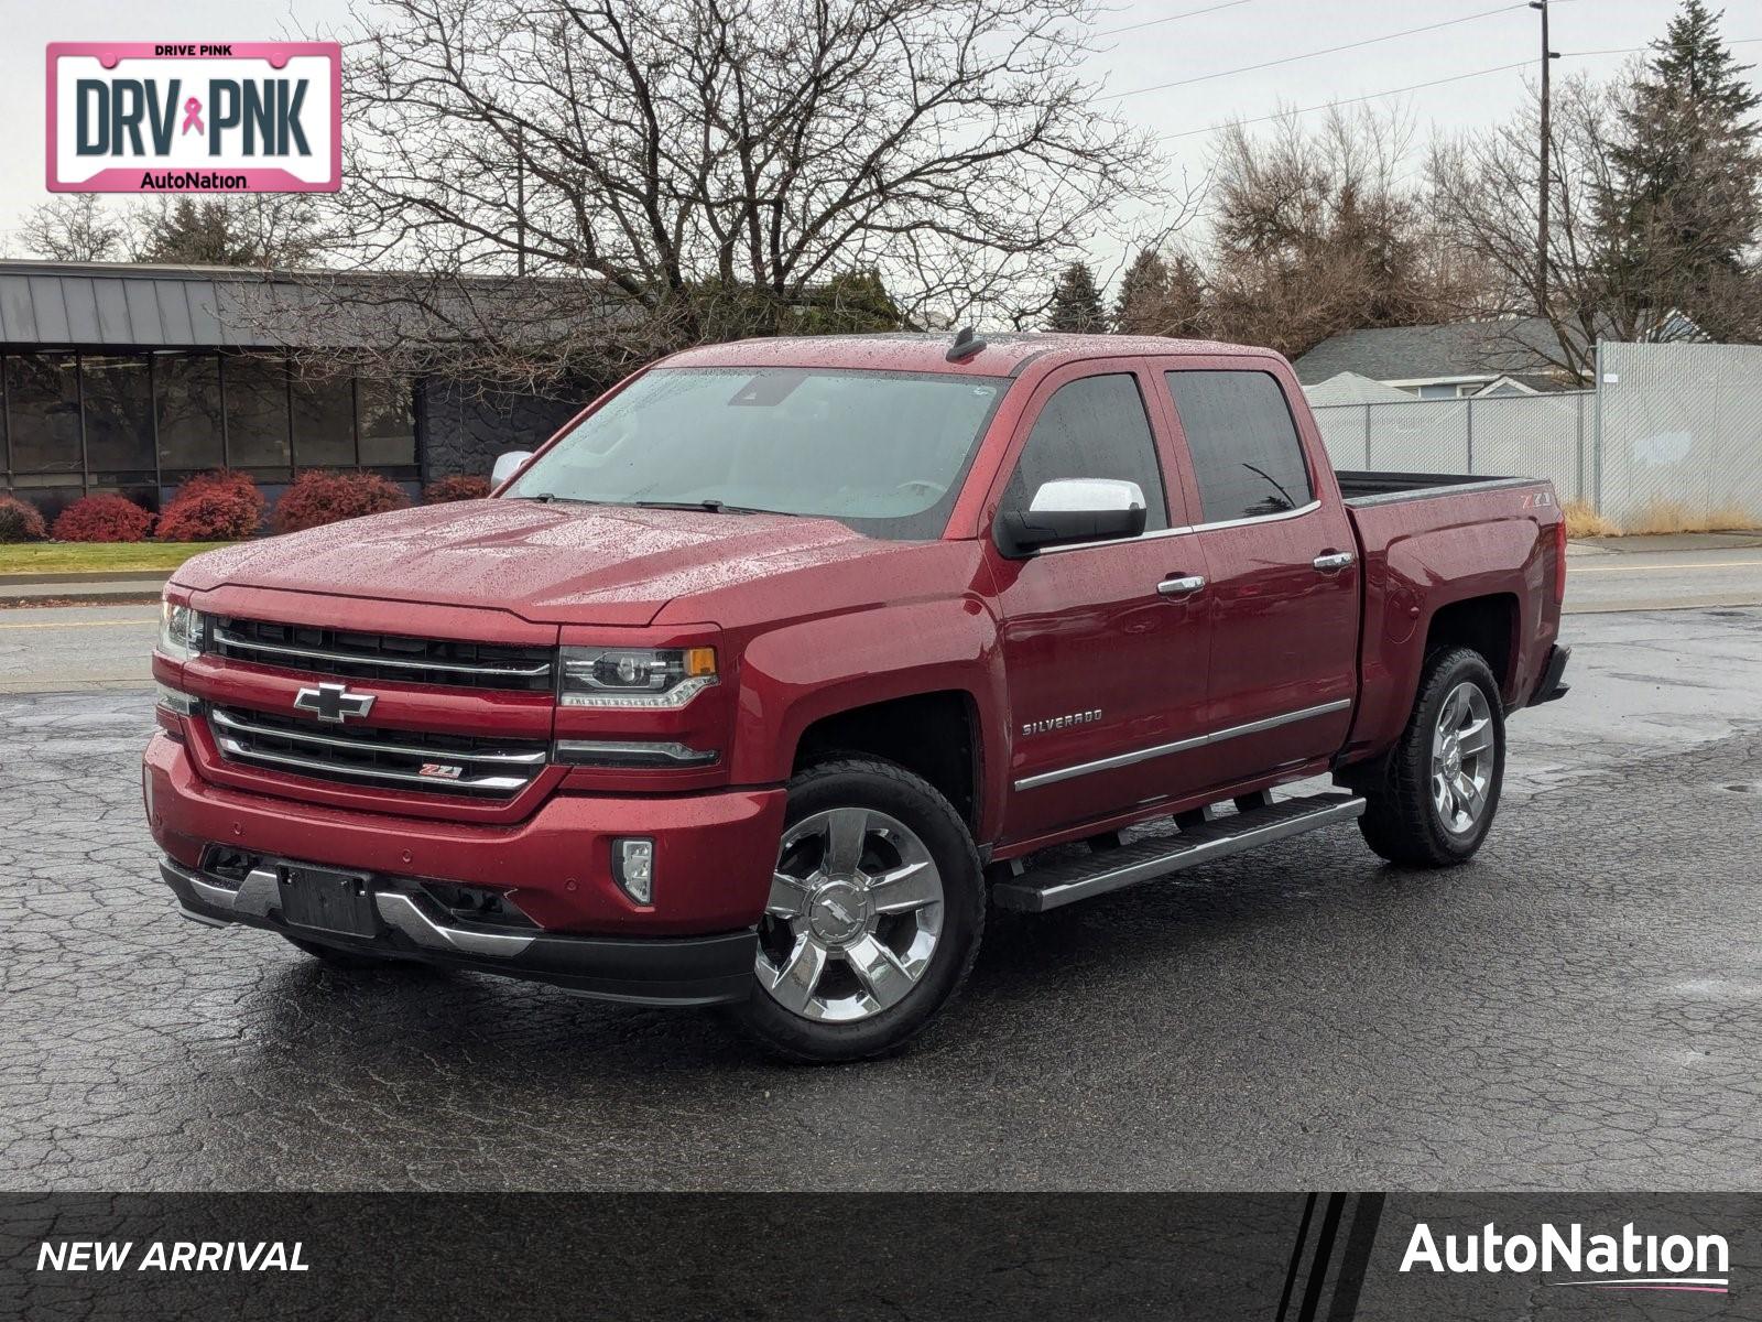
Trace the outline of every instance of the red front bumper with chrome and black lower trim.
<instances>
[{"instance_id":1,"label":"red front bumper with chrome and black lower trim","mask_svg":"<svg viewBox=\"0 0 1762 1322\"><path fill-rule=\"evenodd\" d=\"M268 892L204 871L211 846L266 864L298 860L372 878L382 920L368 943L375 954L655 1005L747 994L784 814L781 788L555 793L511 825L366 813L211 784L167 733L146 747L143 790L166 883L192 918L363 948L284 924L263 902ZM624 836L654 841L652 904L633 901L611 876L611 843ZM485 940L474 925L449 924L425 883L492 890L536 927Z\"/></svg>"}]
</instances>

